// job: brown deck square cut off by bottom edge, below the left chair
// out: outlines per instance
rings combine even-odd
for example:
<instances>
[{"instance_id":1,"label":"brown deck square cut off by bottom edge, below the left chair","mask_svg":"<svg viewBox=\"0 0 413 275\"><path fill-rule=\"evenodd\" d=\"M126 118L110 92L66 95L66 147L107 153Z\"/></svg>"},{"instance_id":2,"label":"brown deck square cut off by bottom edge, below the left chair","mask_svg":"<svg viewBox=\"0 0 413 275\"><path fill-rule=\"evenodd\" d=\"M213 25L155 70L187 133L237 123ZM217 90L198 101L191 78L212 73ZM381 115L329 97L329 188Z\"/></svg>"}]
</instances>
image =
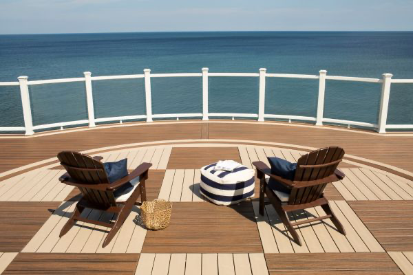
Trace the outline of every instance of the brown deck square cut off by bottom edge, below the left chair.
<instances>
[{"instance_id":1,"label":"brown deck square cut off by bottom edge, below the left chair","mask_svg":"<svg viewBox=\"0 0 413 275\"><path fill-rule=\"evenodd\" d=\"M3 274L135 274L139 254L19 253Z\"/></svg>"}]
</instances>

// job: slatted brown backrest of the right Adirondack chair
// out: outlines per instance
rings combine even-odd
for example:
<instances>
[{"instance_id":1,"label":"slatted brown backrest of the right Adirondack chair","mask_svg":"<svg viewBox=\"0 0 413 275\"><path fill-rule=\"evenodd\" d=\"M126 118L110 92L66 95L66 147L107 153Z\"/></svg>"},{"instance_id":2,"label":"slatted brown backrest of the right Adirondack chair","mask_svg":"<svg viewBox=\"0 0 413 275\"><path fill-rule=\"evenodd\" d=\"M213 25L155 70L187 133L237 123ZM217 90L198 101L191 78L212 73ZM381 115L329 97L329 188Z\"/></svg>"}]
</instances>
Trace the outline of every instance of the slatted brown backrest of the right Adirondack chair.
<instances>
[{"instance_id":1,"label":"slatted brown backrest of the right Adirondack chair","mask_svg":"<svg viewBox=\"0 0 413 275\"><path fill-rule=\"evenodd\" d=\"M339 165L339 160L341 160L343 156L344 150L340 147L321 148L301 156L297 162L294 181L313 181L332 175ZM320 164L324 165L321 167L313 167ZM315 201L323 195L326 185L327 184L300 186L300 184L297 184L293 190L291 190L288 204L302 204Z\"/></svg>"}]
</instances>

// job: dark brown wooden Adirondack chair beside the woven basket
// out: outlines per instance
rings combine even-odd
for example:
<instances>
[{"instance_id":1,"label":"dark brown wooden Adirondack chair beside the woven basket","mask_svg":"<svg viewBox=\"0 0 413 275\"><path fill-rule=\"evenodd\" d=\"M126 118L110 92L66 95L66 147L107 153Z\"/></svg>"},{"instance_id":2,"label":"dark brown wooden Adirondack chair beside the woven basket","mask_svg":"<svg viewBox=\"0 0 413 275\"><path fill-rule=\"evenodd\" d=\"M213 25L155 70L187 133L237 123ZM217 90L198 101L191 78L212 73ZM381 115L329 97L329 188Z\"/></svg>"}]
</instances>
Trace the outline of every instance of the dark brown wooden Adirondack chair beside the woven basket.
<instances>
[{"instance_id":1,"label":"dark brown wooden Adirondack chair beside the woven basket","mask_svg":"<svg viewBox=\"0 0 413 275\"><path fill-rule=\"evenodd\" d=\"M112 228L103 241L102 247L105 248L123 225L132 207L135 204L140 204L136 202L138 197L141 201L146 201L145 180L152 164L144 162L126 177L109 183L103 163L100 162L103 157L89 157L77 152L63 151L57 155L57 158L67 171L59 180L64 184L76 186L83 195L76 204L72 217L63 226L60 237L65 235L76 221L103 225ZM114 191L116 189L129 181L136 180L137 177L139 177L139 183L136 183L133 190L123 194L122 199L115 197ZM117 214L117 217L115 216L114 222L109 221L109 223L87 219L81 216L85 208L112 212Z\"/></svg>"}]
</instances>

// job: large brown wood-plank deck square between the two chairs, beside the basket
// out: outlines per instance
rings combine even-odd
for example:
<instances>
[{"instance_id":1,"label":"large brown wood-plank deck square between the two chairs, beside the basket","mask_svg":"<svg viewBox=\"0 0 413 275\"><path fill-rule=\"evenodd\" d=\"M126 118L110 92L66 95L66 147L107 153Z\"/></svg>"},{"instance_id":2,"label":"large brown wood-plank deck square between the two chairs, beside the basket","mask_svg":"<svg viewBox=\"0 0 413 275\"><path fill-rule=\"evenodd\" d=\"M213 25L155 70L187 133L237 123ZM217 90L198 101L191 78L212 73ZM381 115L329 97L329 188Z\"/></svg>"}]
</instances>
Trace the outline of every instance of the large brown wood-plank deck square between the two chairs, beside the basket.
<instances>
[{"instance_id":1,"label":"large brown wood-plank deck square between the two chairs, beside the basket","mask_svg":"<svg viewBox=\"0 0 413 275\"><path fill-rule=\"evenodd\" d=\"M165 230L148 231L142 253L257 253L260 234L251 201L235 206L177 202Z\"/></svg>"}]
</instances>

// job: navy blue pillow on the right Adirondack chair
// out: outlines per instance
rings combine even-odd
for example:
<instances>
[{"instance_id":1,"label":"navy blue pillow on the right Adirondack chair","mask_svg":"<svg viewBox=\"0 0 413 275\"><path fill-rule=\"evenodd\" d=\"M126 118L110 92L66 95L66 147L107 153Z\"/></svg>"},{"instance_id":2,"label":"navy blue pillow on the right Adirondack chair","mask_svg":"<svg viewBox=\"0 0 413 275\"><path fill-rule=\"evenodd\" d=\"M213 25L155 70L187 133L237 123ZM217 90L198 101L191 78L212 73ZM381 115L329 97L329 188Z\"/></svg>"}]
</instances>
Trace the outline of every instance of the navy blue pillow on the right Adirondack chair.
<instances>
[{"instance_id":1,"label":"navy blue pillow on the right Adirondack chair","mask_svg":"<svg viewBox=\"0 0 413 275\"><path fill-rule=\"evenodd\" d=\"M284 177L284 179L294 179L295 169L297 168L296 163L288 162L287 160L280 159L279 157L267 157L267 159L271 165L271 174L277 175L279 177ZM270 178L268 180L268 187L280 192L291 192L290 188L284 186L284 184L276 181L273 178Z\"/></svg>"}]
</instances>

